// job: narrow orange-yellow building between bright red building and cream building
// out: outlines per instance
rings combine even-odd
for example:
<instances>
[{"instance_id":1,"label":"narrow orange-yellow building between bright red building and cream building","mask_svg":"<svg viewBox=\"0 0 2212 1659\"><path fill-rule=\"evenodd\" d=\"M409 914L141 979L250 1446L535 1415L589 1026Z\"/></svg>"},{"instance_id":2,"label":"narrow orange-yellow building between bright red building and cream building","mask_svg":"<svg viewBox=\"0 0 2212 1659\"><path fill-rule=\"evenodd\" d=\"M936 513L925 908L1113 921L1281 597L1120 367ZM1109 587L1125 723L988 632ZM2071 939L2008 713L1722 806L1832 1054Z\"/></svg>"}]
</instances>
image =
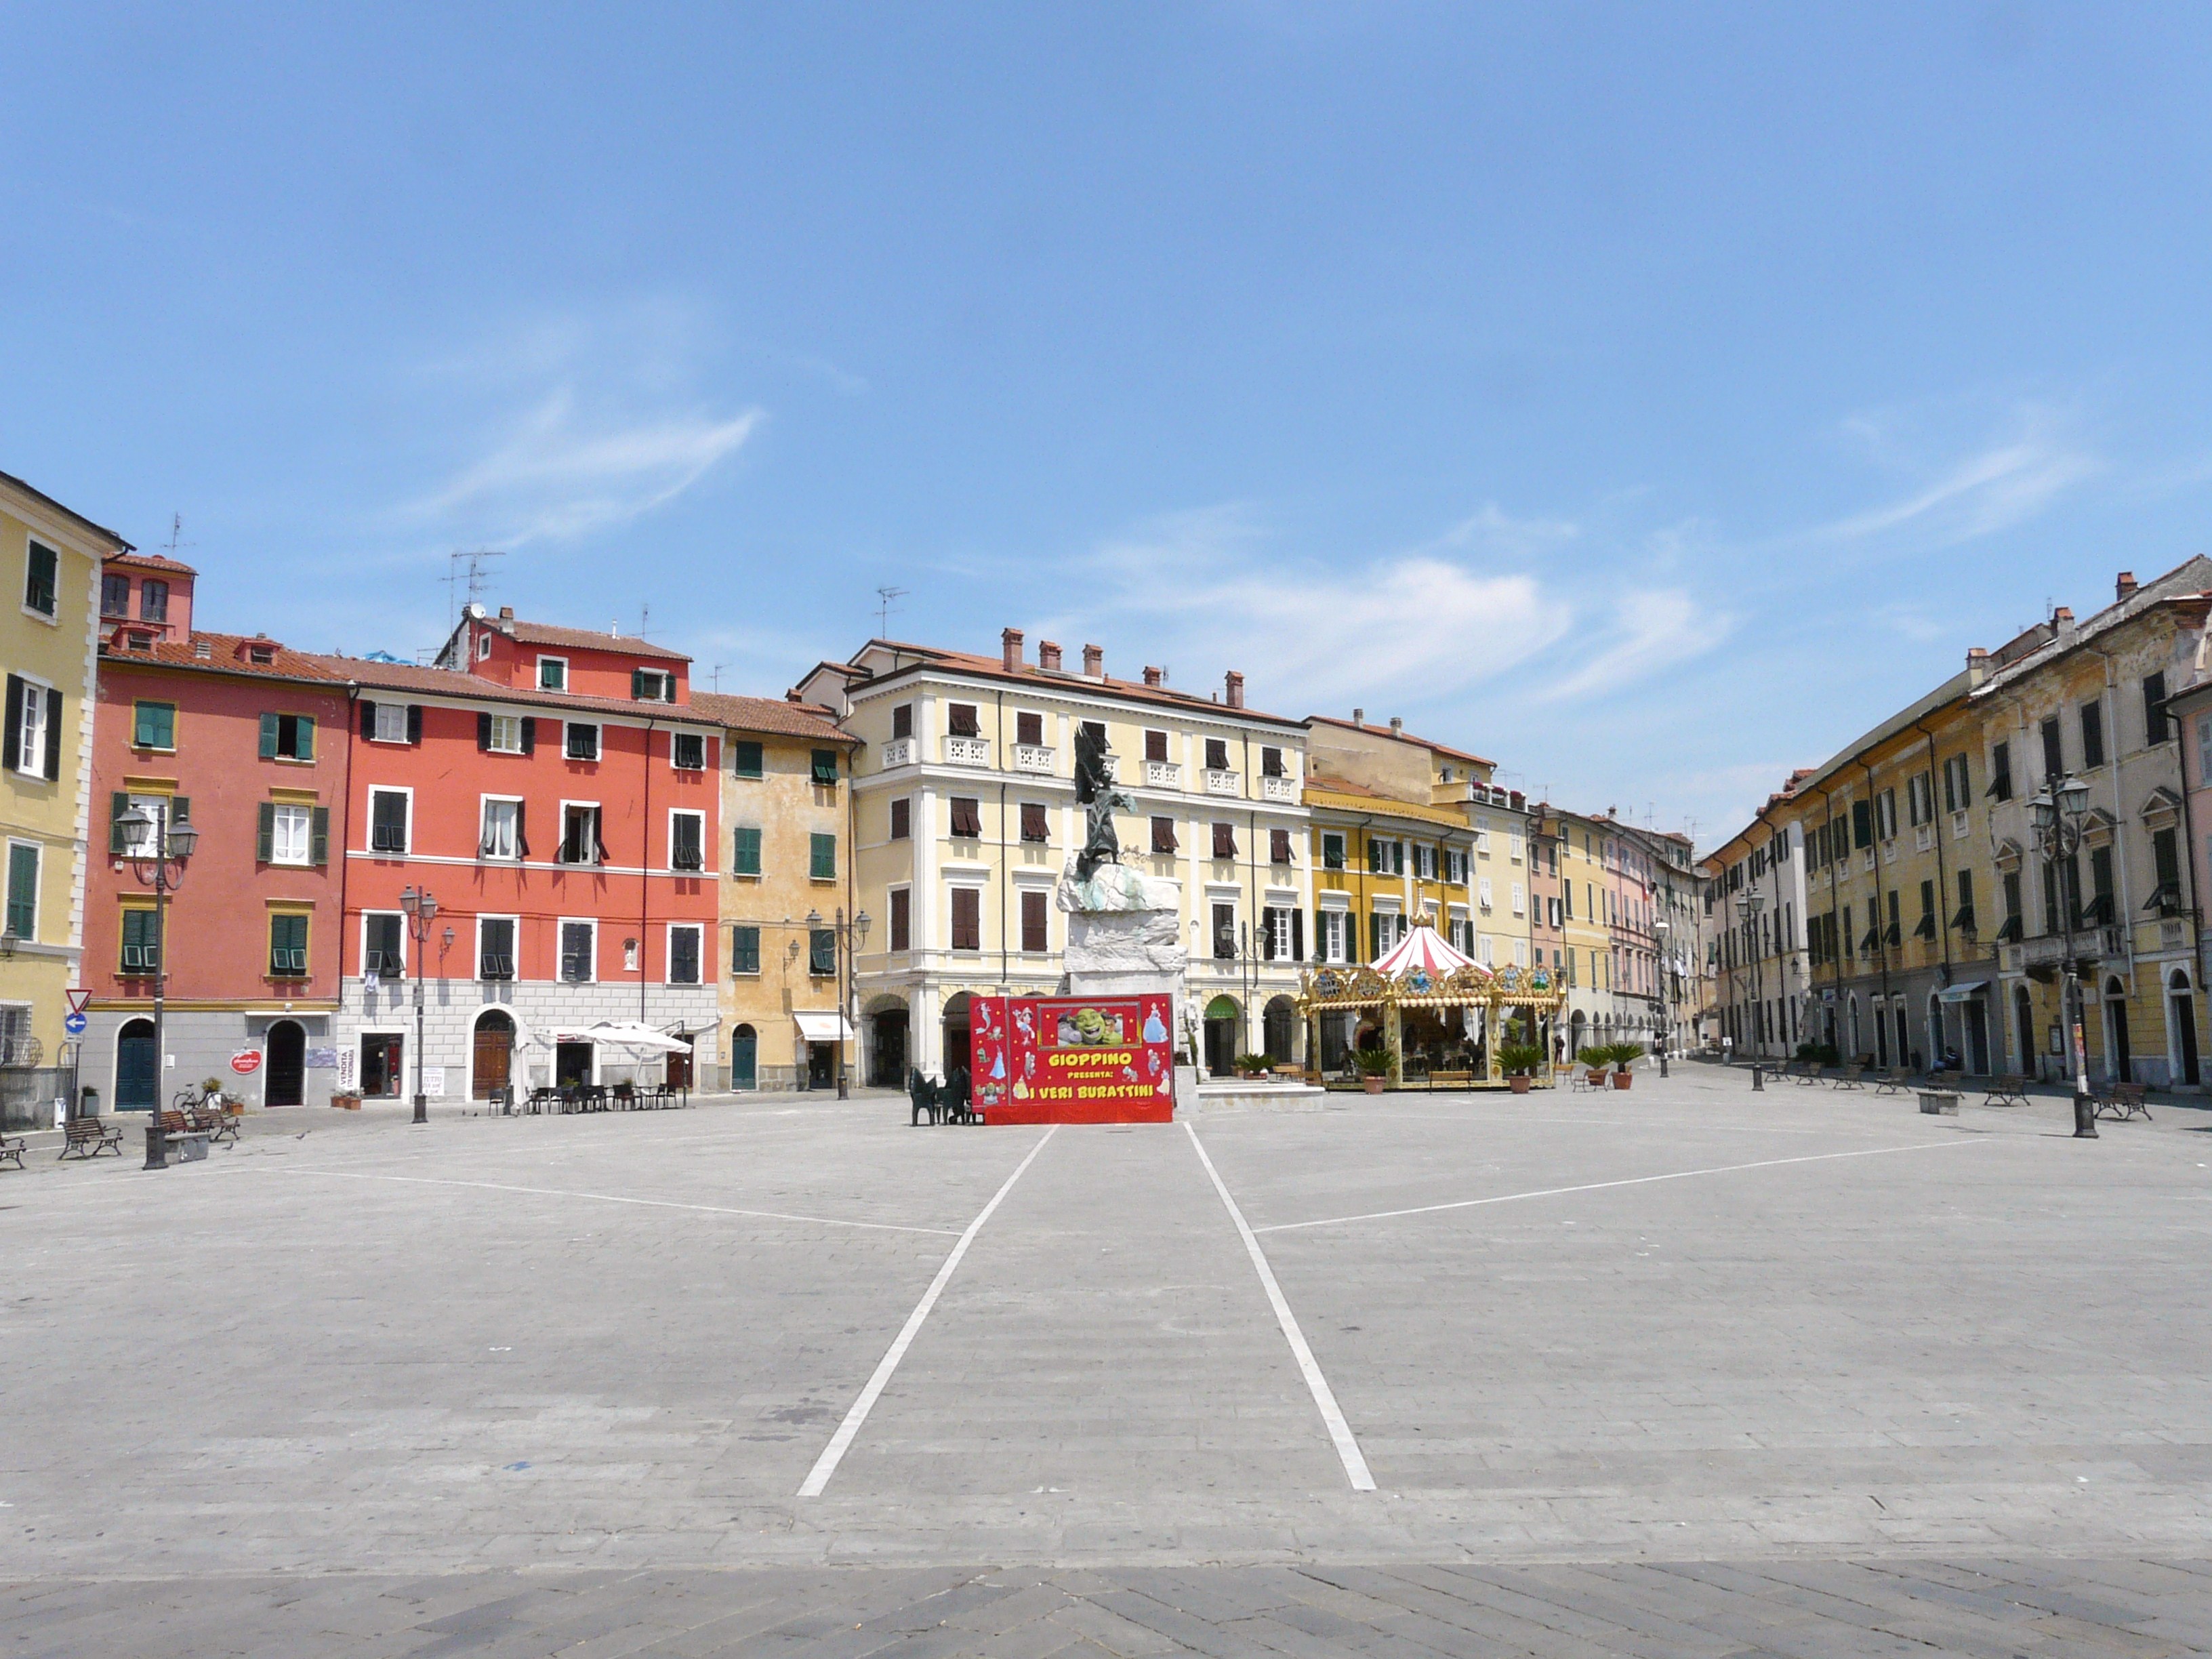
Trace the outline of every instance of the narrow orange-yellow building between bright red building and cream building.
<instances>
[{"instance_id":1,"label":"narrow orange-yellow building between bright red building and cream building","mask_svg":"<svg viewBox=\"0 0 2212 1659\"><path fill-rule=\"evenodd\" d=\"M832 1088L838 1046L860 1082L852 1006L838 1006L838 922L852 925L849 774L854 739L830 712L768 697L692 692L721 726L721 1026L714 1082ZM880 918L872 918L880 927ZM845 964L847 991L852 962Z\"/></svg>"}]
</instances>

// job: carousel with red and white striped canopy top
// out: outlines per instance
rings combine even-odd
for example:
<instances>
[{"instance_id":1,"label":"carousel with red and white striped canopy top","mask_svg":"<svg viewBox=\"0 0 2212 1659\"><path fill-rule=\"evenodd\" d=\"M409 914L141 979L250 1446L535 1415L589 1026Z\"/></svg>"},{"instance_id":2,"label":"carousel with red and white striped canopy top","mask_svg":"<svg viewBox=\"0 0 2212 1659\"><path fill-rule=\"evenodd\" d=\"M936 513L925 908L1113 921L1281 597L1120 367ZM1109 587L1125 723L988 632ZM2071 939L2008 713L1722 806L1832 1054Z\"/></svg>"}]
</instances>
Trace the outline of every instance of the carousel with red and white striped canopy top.
<instances>
[{"instance_id":1,"label":"carousel with red and white striped canopy top","mask_svg":"<svg viewBox=\"0 0 2212 1659\"><path fill-rule=\"evenodd\" d=\"M1385 1048L1398 1086L1444 1075L1504 1082L1500 1044L1517 1040L1551 1055L1562 1002L1566 987L1548 969L1482 967L1427 916L1367 967L1298 975L1310 1064L1327 1071L1332 1057L1349 1064L1354 1048Z\"/></svg>"}]
</instances>

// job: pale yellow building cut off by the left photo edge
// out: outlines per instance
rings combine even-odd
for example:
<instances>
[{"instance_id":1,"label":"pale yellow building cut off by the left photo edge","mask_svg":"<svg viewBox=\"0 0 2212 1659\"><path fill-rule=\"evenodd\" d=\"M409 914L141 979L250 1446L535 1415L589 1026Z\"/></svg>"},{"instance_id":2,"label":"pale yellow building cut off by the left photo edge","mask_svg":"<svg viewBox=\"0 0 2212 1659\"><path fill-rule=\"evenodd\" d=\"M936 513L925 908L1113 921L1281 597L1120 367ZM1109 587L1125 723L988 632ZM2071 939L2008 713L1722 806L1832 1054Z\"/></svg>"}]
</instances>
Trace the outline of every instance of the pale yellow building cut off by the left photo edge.
<instances>
[{"instance_id":1,"label":"pale yellow building cut off by the left photo edge","mask_svg":"<svg viewBox=\"0 0 2212 1659\"><path fill-rule=\"evenodd\" d=\"M7 918L0 929L0 1115L51 1121L71 1086L62 1020L84 945L84 825L93 787L93 675L100 562L128 553L113 531L0 473L7 613L7 730L0 818Z\"/></svg>"}]
</instances>

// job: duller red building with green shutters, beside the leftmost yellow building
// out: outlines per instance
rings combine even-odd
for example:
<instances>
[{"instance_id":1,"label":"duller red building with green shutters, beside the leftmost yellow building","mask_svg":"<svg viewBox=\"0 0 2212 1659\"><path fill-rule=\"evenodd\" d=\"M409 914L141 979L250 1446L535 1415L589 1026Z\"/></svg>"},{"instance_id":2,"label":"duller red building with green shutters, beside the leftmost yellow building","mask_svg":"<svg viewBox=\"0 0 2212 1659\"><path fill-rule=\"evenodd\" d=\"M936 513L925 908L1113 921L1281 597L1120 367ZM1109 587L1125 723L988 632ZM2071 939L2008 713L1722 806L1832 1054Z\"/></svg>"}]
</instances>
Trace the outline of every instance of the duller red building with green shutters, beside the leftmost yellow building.
<instances>
[{"instance_id":1,"label":"duller red building with green shutters, beside the leftmost yellow building","mask_svg":"<svg viewBox=\"0 0 2212 1659\"><path fill-rule=\"evenodd\" d=\"M161 557L104 568L80 1082L122 1110L204 1077L268 1106L327 1099L349 690L327 657L190 633L192 580ZM150 1018L155 898L128 858L131 807L199 832L159 951L166 1062ZM232 1071L243 1051L263 1057L254 1073Z\"/></svg>"}]
</instances>

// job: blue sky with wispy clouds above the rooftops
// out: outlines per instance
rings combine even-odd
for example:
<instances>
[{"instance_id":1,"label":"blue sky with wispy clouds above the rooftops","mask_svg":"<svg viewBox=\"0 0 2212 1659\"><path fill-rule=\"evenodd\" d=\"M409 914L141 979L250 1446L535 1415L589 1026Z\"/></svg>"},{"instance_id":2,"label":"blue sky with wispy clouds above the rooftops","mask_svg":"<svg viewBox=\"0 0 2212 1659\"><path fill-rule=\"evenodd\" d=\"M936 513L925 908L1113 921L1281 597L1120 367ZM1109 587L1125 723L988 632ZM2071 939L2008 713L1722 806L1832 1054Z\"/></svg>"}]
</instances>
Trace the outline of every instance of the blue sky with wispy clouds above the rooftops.
<instances>
[{"instance_id":1,"label":"blue sky with wispy clouds above the rooftops","mask_svg":"<svg viewBox=\"0 0 2212 1659\"><path fill-rule=\"evenodd\" d=\"M13 9L0 469L201 619L1015 624L1712 841L2208 549L2212 9Z\"/></svg>"}]
</instances>

